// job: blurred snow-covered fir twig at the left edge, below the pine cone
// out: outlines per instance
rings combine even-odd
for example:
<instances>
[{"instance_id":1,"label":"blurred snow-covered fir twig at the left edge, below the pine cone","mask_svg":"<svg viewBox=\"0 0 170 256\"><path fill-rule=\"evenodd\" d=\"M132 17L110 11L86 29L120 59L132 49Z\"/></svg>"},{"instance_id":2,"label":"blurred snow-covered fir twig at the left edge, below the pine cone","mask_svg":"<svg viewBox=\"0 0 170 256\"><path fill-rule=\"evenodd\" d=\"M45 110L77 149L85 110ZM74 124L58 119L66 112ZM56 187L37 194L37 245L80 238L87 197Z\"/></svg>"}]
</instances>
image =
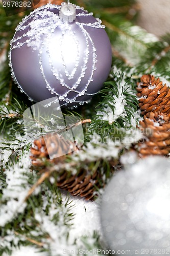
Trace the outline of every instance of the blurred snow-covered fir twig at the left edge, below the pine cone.
<instances>
[{"instance_id":1,"label":"blurred snow-covered fir twig at the left edge, below the pine cone","mask_svg":"<svg viewBox=\"0 0 170 256\"><path fill-rule=\"evenodd\" d=\"M23 212L27 206L25 198L30 189L28 184L31 159L29 154L23 155L18 163L6 169L7 187L3 190L2 201L6 201L0 208L0 226L5 226L16 217L17 213Z\"/></svg>"}]
</instances>

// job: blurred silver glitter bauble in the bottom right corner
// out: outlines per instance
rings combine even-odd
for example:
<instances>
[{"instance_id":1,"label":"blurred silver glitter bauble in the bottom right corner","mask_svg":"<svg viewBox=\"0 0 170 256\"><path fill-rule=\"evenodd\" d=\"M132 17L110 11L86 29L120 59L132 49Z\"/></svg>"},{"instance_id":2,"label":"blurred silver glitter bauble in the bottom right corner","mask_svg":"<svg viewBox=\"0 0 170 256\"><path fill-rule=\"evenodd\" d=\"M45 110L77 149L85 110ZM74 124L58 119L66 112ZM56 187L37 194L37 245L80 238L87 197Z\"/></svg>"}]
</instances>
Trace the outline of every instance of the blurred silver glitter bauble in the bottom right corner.
<instances>
[{"instance_id":1,"label":"blurred silver glitter bauble in the bottom right corner","mask_svg":"<svg viewBox=\"0 0 170 256\"><path fill-rule=\"evenodd\" d=\"M170 163L145 158L118 172L106 187L101 221L116 255L170 253Z\"/></svg>"}]
</instances>

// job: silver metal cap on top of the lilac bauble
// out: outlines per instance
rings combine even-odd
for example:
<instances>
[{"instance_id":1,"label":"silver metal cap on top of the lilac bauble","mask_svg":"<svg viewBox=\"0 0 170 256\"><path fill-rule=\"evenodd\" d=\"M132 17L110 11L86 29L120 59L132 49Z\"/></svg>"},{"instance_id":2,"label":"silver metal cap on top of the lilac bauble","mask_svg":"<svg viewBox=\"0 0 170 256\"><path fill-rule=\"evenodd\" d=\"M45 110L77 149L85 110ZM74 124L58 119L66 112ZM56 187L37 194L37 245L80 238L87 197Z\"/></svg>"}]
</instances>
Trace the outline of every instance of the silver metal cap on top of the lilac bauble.
<instances>
[{"instance_id":1,"label":"silver metal cap on top of the lilac bauble","mask_svg":"<svg viewBox=\"0 0 170 256\"><path fill-rule=\"evenodd\" d=\"M63 20L63 22L74 22L74 20L76 19L75 5L70 4L69 0L67 0L67 4L62 3L59 16L60 19Z\"/></svg>"}]
</instances>

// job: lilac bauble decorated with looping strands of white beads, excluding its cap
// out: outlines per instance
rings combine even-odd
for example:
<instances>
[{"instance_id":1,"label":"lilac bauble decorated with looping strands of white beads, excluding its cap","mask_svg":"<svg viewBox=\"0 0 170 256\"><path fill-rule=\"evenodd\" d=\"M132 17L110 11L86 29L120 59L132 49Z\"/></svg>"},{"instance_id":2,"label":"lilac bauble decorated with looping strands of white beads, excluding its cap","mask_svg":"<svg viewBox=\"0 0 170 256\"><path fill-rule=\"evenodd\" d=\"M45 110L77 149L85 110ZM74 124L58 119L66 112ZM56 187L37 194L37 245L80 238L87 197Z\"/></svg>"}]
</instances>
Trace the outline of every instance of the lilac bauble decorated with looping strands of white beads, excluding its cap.
<instances>
[{"instance_id":1,"label":"lilac bauble decorated with looping strands of white beads, excluding its cap","mask_svg":"<svg viewBox=\"0 0 170 256\"><path fill-rule=\"evenodd\" d=\"M61 106L77 106L98 93L109 75L112 52L105 26L75 8L74 22L62 21L61 6L47 4L16 28L9 53L12 77L31 100L55 103L57 96Z\"/></svg>"}]
</instances>

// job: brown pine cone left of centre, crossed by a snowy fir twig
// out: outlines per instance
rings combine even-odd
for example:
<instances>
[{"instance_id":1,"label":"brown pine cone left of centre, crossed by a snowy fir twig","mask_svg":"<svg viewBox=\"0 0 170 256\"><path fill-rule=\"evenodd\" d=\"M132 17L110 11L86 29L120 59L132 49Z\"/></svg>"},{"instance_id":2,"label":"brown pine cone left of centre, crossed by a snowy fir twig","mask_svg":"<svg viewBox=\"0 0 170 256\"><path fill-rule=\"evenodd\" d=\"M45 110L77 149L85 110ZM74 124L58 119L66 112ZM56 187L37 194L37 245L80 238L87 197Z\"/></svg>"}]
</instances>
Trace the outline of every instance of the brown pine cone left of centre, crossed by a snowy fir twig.
<instances>
[{"instance_id":1,"label":"brown pine cone left of centre, crossed by a snowy fir twig","mask_svg":"<svg viewBox=\"0 0 170 256\"><path fill-rule=\"evenodd\" d=\"M66 156L57 157L58 152L60 153L59 155L61 155L61 151L63 151L64 148L66 148L66 150L70 148L68 154L71 154L73 150L77 150L77 146L74 143L65 141L63 137L56 134L55 138L54 140L54 135L47 134L34 141L34 146L31 147L31 159L34 166L43 166L43 158L54 164L64 163ZM53 154L55 158L50 160L48 152ZM99 180L101 180L101 176L100 169L96 169L93 174L91 174L89 170L81 169L79 174L71 175L70 177L68 177L66 171L63 171L59 174L57 186L69 191L72 196L81 196L85 197L86 200L93 200L96 187L100 187Z\"/></svg>"}]
</instances>

